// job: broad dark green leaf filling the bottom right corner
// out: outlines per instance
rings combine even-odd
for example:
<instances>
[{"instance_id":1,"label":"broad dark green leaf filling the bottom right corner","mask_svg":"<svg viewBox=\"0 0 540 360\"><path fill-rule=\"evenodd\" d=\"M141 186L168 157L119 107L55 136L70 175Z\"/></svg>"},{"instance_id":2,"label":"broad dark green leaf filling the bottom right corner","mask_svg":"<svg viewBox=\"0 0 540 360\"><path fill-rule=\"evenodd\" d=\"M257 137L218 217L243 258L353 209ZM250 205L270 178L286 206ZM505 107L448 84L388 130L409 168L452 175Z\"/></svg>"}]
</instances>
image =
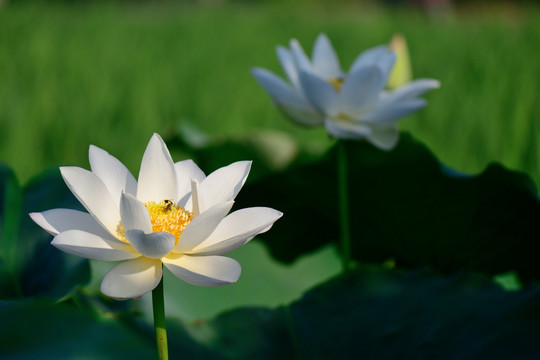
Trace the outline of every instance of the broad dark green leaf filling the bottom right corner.
<instances>
[{"instance_id":1,"label":"broad dark green leaf filling the bottom right corner","mask_svg":"<svg viewBox=\"0 0 540 360\"><path fill-rule=\"evenodd\" d=\"M199 326L229 359L534 359L540 290L361 266L275 310Z\"/></svg>"}]
</instances>

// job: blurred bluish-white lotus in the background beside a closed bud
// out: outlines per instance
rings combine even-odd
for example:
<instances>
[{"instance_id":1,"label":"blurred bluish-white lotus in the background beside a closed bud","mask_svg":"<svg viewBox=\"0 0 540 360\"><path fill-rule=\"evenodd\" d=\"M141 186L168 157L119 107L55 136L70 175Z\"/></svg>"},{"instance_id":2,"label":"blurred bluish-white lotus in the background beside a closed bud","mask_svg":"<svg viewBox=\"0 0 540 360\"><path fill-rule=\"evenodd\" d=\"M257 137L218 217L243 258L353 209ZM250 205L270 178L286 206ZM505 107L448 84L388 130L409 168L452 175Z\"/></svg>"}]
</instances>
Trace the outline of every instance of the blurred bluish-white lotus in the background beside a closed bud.
<instances>
[{"instance_id":1,"label":"blurred bluish-white lotus in the background beside a closed bud","mask_svg":"<svg viewBox=\"0 0 540 360\"><path fill-rule=\"evenodd\" d=\"M386 45L358 56L348 74L324 34L318 36L311 60L295 39L289 49L278 46L277 55L288 82L265 69L252 73L279 109L301 125L324 124L336 138L366 139L381 149L396 145L399 118L427 104L419 96L440 86L437 80L420 79L385 91L396 60Z\"/></svg>"}]
</instances>

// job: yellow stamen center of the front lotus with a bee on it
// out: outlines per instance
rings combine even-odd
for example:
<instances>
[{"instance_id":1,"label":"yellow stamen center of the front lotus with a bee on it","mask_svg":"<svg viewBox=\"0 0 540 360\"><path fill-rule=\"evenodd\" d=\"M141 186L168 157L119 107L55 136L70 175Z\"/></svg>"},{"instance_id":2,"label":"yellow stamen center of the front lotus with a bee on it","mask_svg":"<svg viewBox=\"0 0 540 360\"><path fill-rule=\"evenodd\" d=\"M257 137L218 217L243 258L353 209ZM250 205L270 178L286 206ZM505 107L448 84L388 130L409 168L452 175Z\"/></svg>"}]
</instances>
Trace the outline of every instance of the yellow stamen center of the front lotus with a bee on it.
<instances>
[{"instance_id":1,"label":"yellow stamen center of the front lotus with a bee on it","mask_svg":"<svg viewBox=\"0 0 540 360\"><path fill-rule=\"evenodd\" d=\"M171 200L162 200L159 203L149 201L144 204L150 214L153 232L168 232L173 234L178 243L180 235L193 220L193 214L181 206L176 206Z\"/></svg>"}]
</instances>

